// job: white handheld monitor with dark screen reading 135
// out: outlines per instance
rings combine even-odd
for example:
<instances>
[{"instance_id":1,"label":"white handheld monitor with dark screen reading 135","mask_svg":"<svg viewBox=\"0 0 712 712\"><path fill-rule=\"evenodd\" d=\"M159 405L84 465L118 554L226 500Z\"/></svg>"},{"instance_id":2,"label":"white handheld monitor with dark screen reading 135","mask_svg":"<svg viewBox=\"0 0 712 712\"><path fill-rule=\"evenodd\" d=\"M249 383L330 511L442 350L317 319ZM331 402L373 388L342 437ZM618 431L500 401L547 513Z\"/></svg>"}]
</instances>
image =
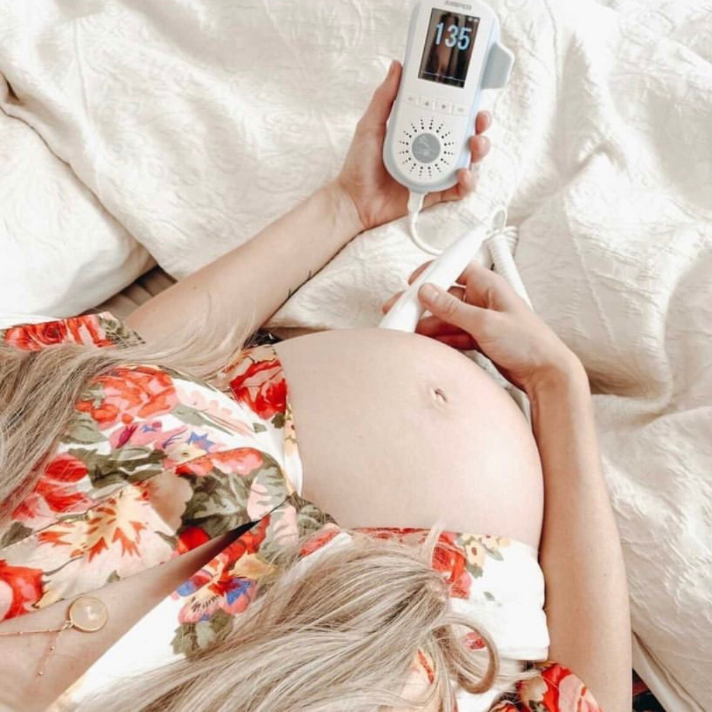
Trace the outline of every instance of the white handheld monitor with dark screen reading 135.
<instances>
[{"instance_id":1,"label":"white handheld monitor with dark screen reading 135","mask_svg":"<svg viewBox=\"0 0 712 712\"><path fill-rule=\"evenodd\" d=\"M417 193L455 185L458 169L470 165L481 90L504 86L512 63L486 4L418 0L383 145L392 177Z\"/></svg>"}]
</instances>

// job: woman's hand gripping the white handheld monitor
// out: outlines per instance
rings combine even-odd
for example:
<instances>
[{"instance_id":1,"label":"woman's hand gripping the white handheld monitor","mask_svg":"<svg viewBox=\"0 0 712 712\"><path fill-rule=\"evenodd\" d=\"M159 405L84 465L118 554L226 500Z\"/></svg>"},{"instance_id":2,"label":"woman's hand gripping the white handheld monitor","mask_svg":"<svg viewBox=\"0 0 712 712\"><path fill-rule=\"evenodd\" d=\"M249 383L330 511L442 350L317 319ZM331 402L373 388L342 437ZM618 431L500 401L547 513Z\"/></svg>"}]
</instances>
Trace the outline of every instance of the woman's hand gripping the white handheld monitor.
<instances>
[{"instance_id":1,"label":"woman's hand gripping the white handheld monitor","mask_svg":"<svg viewBox=\"0 0 712 712\"><path fill-rule=\"evenodd\" d=\"M383 164L383 141L386 122L403 67L398 61L375 90L356 131L335 184L353 201L362 230L367 230L407 214L408 190L396 182ZM492 116L481 111L475 119L474 135L469 139L471 162L477 163L487 155L490 140L483 136L491 125ZM475 177L470 169L461 168L458 182L453 187L429 193L423 206L428 207L447 200L461 200L475 188Z\"/></svg>"}]
</instances>

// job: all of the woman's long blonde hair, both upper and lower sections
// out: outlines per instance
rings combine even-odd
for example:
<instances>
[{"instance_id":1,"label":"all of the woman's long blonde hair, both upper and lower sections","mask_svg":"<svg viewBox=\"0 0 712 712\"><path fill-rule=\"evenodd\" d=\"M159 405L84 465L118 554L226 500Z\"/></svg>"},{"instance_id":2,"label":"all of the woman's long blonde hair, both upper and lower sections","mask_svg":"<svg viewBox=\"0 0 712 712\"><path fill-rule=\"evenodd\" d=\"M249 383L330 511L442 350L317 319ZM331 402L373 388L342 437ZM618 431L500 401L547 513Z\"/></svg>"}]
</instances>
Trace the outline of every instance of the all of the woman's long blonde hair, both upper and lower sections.
<instances>
[{"instance_id":1,"label":"all of the woman's long blonde hair, both upper and lower sections","mask_svg":"<svg viewBox=\"0 0 712 712\"><path fill-rule=\"evenodd\" d=\"M0 519L33 486L93 377L142 363L221 385L221 369L246 334L225 334L215 313L189 318L172 346L154 339L24 351L0 339ZM451 609L446 582L431 567L438 533L431 530L419 548L352 533L348 547L310 555L306 568L298 563L300 540L278 554L278 573L260 582L249 609L216 644L78 709L375 712L436 703L449 712L453 683L481 692L535 675L499 660L486 632ZM485 648L468 648L461 629L476 632ZM399 691L419 650L432 662L433 684L426 698L408 700Z\"/></svg>"}]
</instances>

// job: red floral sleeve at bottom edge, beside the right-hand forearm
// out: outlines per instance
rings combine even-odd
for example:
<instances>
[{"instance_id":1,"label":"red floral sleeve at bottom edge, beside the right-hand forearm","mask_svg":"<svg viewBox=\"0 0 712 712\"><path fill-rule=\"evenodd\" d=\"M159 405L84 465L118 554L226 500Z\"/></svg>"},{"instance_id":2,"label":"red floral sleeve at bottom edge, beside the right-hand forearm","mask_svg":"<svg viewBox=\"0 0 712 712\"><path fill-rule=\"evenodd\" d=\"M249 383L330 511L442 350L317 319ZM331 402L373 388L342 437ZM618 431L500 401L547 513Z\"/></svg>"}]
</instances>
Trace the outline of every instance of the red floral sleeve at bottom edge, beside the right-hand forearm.
<instances>
[{"instance_id":1,"label":"red floral sleeve at bottom edge, beside the right-hand forearm","mask_svg":"<svg viewBox=\"0 0 712 712\"><path fill-rule=\"evenodd\" d=\"M602 712L591 691L567 667L537 663L538 676L517 684L516 692L491 712Z\"/></svg>"}]
</instances>

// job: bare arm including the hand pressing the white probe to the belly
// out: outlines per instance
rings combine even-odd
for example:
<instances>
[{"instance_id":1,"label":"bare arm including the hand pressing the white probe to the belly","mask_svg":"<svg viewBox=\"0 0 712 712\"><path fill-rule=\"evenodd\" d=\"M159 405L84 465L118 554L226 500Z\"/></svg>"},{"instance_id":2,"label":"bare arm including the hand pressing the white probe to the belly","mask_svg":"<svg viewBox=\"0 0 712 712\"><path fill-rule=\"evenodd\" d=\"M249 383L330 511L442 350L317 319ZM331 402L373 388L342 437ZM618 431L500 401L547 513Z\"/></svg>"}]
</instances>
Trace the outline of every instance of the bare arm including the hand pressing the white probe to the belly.
<instances>
[{"instance_id":1,"label":"bare arm including the hand pressing the white probe to the belly","mask_svg":"<svg viewBox=\"0 0 712 712\"><path fill-rule=\"evenodd\" d=\"M586 372L503 277L473 262L458 284L450 293L433 286L433 296L421 287L431 316L417 330L480 350L527 392L544 476L540 564L549 656L580 677L605 712L630 712L627 582Z\"/></svg>"}]
</instances>

